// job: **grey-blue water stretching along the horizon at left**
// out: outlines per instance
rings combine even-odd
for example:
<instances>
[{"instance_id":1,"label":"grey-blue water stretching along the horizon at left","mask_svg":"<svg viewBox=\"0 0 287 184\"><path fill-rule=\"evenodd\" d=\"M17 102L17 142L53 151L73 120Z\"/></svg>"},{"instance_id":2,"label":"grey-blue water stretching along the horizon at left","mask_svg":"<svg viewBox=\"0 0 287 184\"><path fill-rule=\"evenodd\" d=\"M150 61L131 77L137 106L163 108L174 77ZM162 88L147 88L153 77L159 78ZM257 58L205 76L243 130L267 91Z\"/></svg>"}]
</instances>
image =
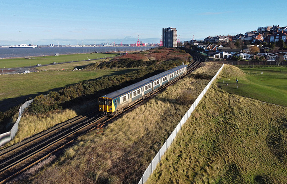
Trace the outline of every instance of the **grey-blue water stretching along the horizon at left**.
<instances>
[{"instance_id":1,"label":"grey-blue water stretching along the horizon at left","mask_svg":"<svg viewBox=\"0 0 287 184\"><path fill-rule=\"evenodd\" d=\"M91 52L126 52L148 50L154 47L42 47L42 48L0 48L1 58L19 58L30 56L48 56L61 54L77 54Z\"/></svg>"}]
</instances>

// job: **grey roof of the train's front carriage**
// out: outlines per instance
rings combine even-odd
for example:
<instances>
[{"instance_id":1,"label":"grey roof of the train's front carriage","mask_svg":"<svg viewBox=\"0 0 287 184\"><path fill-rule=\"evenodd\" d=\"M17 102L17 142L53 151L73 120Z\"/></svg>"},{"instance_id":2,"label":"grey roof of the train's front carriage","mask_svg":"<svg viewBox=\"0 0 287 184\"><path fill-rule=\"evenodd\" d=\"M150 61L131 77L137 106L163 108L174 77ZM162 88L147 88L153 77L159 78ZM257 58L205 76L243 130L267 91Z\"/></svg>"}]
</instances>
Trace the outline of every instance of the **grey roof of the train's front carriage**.
<instances>
[{"instance_id":1,"label":"grey roof of the train's front carriage","mask_svg":"<svg viewBox=\"0 0 287 184\"><path fill-rule=\"evenodd\" d=\"M124 94L127 94L127 93L129 93L129 92L132 92L132 91L134 91L135 89L138 89L138 88L140 88L140 87L143 87L143 86L145 86L145 85L147 85L147 84L149 84L149 83L151 83L150 80L142 80L142 81L137 82L137 83L135 83L135 84L132 84L132 85L130 85L130 86L124 87L124 88L119 89L119 90L114 91L114 92L111 92L111 93L109 93L109 94L107 94L107 95L105 95L105 96L102 96L102 97L108 97L108 98L114 99L114 98L123 96Z\"/></svg>"}]
</instances>

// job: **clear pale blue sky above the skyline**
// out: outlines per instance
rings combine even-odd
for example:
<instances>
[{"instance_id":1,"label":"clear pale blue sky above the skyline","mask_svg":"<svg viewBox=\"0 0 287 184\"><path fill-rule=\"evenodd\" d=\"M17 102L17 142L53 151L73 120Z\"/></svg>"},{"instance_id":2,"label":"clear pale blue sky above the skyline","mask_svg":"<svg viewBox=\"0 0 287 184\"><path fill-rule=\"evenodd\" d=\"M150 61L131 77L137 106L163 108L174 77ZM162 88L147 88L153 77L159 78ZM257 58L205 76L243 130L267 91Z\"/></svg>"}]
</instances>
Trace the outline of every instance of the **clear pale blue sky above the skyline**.
<instances>
[{"instance_id":1,"label":"clear pale blue sky above the skyline","mask_svg":"<svg viewBox=\"0 0 287 184\"><path fill-rule=\"evenodd\" d=\"M286 0L1 0L0 45L157 43L287 26Z\"/></svg>"}]
</instances>

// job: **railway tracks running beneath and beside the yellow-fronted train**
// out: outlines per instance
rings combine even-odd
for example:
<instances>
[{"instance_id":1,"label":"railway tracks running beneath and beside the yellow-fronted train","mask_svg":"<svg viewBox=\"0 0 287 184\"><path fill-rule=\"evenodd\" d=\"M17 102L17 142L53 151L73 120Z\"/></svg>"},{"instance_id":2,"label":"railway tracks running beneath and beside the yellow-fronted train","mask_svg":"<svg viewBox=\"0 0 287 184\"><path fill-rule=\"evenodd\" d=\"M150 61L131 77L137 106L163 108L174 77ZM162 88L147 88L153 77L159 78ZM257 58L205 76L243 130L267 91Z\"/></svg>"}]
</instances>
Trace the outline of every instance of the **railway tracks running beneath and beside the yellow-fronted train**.
<instances>
[{"instance_id":1,"label":"railway tracks running beneath and beside the yellow-fronted train","mask_svg":"<svg viewBox=\"0 0 287 184\"><path fill-rule=\"evenodd\" d=\"M204 61L204 59L199 56L194 55L192 57L193 62L188 65L187 74L200 67L201 63ZM178 80L182 77L183 76L179 77ZM147 97L139 100L137 103L131 105L119 114L134 108L142 103L146 98L155 95L178 80L172 81L168 85L163 86L160 90L149 94ZM61 123L20 144L2 150L0 152L0 184L7 182L22 171L36 163L39 163L68 144L71 144L80 135L93 129L99 129L115 117L101 116L99 111L94 111L86 115L76 117L71 121Z\"/></svg>"}]
</instances>

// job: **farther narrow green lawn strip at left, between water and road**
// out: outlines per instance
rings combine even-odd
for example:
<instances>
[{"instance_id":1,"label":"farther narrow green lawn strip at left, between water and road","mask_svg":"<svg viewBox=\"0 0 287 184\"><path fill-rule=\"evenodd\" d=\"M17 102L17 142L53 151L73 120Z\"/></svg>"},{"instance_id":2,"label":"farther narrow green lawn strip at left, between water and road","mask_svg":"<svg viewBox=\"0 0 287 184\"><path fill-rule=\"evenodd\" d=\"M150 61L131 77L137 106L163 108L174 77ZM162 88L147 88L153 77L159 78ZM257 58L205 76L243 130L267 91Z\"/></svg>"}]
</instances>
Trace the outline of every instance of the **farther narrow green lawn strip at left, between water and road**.
<instances>
[{"instance_id":1,"label":"farther narrow green lawn strip at left, between water and road","mask_svg":"<svg viewBox=\"0 0 287 184\"><path fill-rule=\"evenodd\" d=\"M70 55L60 55L60 56L35 56L29 57L30 59L23 58L12 58L12 59L2 59L0 60L0 68L15 68L15 67L27 67L34 66L37 64L52 64L64 63L71 61L87 61L88 59L100 59L107 57L114 57L118 53L92 53L92 54L70 54Z\"/></svg>"}]
</instances>

